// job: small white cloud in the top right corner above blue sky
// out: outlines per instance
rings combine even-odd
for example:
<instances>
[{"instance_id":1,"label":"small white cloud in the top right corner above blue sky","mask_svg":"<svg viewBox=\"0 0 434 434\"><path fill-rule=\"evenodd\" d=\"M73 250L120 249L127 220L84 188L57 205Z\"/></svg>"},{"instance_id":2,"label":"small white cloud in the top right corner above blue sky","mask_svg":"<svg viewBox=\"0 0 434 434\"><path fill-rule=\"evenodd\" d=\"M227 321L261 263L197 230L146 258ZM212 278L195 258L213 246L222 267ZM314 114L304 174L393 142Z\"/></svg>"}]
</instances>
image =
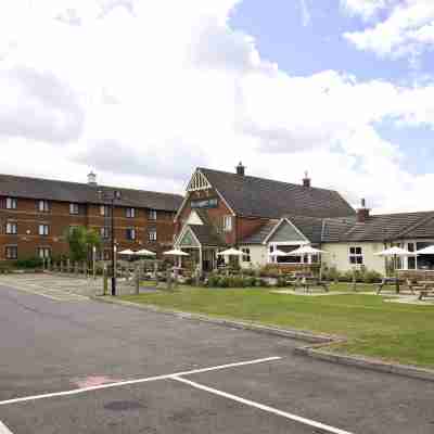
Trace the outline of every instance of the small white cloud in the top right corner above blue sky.
<instances>
[{"instance_id":1,"label":"small white cloud in the top right corner above blue sky","mask_svg":"<svg viewBox=\"0 0 434 434\"><path fill-rule=\"evenodd\" d=\"M396 2L384 21L344 36L359 50L372 51L380 56L414 59L434 46L434 2Z\"/></svg>"}]
</instances>

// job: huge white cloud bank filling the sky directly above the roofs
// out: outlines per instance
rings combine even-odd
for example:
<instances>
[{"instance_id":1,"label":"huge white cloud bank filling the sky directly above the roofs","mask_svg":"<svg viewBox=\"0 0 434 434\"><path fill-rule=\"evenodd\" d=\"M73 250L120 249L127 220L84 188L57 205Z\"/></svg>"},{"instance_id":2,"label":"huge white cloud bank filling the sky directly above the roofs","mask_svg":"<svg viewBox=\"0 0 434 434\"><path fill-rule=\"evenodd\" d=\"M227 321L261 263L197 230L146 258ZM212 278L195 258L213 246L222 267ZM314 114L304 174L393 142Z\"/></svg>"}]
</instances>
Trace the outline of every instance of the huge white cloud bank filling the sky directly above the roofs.
<instances>
[{"instance_id":1,"label":"huge white cloud bank filling the sky directly above the roofs","mask_svg":"<svg viewBox=\"0 0 434 434\"><path fill-rule=\"evenodd\" d=\"M433 127L434 87L290 76L231 28L237 3L0 5L0 170L79 181L93 168L102 182L181 192L193 166L242 159L291 182L308 169L316 186L378 209L434 208L374 129Z\"/></svg>"}]
</instances>

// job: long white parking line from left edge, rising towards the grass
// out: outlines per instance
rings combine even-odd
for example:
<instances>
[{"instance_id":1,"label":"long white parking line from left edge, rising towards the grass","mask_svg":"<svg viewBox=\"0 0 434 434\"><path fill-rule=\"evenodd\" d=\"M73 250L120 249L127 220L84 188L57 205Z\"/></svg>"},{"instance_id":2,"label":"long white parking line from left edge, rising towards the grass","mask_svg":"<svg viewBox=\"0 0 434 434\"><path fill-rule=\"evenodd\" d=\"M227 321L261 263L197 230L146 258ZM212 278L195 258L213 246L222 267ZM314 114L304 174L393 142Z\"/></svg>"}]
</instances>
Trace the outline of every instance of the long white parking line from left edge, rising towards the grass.
<instances>
[{"instance_id":1,"label":"long white parking line from left edge, rising towards the grass","mask_svg":"<svg viewBox=\"0 0 434 434\"><path fill-rule=\"evenodd\" d=\"M157 381L157 380L168 380L168 379L174 379L174 378L178 378L178 376L182 376L182 375L192 375L194 373L218 371L221 369L237 368L237 367L243 367L243 366L248 366L248 365L265 363L267 361L276 361L276 360L280 360L280 359L281 359L281 357L267 357L264 359L240 361L237 363L228 363L228 365L220 365L220 366L215 366L215 367L210 367L210 368L202 368L202 369L194 369L191 371L176 372L176 373L170 373L167 375L156 375L156 376L149 376L145 379L120 381L117 383L102 384L99 386L74 388L72 391L66 391L66 392L55 392L55 393L49 393L49 394L42 394L42 395L25 396L22 398L2 400L2 401L0 401L0 406L5 406L8 404L25 403L25 401L29 401L29 400L37 400L37 399L43 399L43 398L54 398L54 397L60 397L60 396L78 395L78 394L82 394L86 392L100 391L103 388L122 387L122 386L127 386L127 385L132 385L132 384L148 383L148 382Z\"/></svg>"}]
</instances>

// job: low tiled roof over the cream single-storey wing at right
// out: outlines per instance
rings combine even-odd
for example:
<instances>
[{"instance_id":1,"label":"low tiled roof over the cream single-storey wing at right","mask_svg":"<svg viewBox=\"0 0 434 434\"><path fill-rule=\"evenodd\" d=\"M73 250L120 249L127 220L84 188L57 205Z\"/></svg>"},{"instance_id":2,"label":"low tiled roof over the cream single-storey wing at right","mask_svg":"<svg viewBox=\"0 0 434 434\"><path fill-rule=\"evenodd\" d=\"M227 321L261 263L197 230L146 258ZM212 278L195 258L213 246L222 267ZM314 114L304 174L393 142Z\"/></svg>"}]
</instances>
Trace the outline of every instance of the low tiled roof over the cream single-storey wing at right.
<instances>
[{"instance_id":1,"label":"low tiled roof over the cream single-storey wing at right","mask_svg":"<svg viewBox=\"0 0 434 434\"><path fill-rule=\"evenodd\" d=\"M394 241L434 238L434 212L372 215L365 222L356 218L324 219L323 242Z\"/></svg>"}]
</instances>

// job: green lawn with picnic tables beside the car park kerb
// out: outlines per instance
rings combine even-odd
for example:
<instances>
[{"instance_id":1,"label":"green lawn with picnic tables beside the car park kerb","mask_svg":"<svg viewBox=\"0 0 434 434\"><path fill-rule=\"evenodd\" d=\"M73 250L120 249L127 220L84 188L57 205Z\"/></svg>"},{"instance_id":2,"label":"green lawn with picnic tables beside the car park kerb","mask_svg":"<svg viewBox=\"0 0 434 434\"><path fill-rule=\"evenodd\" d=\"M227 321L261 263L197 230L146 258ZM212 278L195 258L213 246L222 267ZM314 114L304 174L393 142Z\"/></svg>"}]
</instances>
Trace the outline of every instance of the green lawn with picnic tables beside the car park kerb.
<instances>
[{"instance_id":1,"label":"green lawn with picnic tables beside the car park kerb","mask_svg":"<svg viewBox=\"0 0 434 434\"><path fill-rule=\"evenodd\" d=\"M335 290L350 290L342 285ZM365 291L366 288L360 288ZM371 288L372 290L372 288ZM124 299L177 310L344 336L333 350L434 368L434 306L386 303L375 295L299 296L267 289L182 288Z\"/></svg>"}]
</instances>

